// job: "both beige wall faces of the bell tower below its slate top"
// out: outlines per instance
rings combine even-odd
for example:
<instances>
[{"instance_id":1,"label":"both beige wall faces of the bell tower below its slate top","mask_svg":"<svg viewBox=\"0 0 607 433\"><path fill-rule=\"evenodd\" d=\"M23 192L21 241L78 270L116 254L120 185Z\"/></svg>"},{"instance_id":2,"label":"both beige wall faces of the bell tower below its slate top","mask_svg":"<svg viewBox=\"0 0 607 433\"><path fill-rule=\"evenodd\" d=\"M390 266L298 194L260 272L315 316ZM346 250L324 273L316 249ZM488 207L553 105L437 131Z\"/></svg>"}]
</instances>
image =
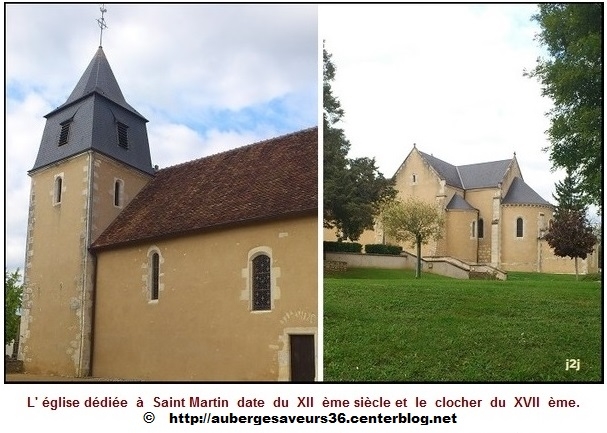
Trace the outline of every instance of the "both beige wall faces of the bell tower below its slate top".
<instances>
[{"instance_id":1,"label":"both beige wall faces of the bell tower below its slate top","mask_svg":"<svg viewBox=\"0 0 607 433\"><path fill-rule=\"evenodd\" d=\"M88 247L90 234L120 211L113 206L118 175L128 199L148 178L92 152L31 174L19 354L28 372L89 373L94 263ZM61 202L54 203L58 176Z\"/></svg>"}]
</instances>

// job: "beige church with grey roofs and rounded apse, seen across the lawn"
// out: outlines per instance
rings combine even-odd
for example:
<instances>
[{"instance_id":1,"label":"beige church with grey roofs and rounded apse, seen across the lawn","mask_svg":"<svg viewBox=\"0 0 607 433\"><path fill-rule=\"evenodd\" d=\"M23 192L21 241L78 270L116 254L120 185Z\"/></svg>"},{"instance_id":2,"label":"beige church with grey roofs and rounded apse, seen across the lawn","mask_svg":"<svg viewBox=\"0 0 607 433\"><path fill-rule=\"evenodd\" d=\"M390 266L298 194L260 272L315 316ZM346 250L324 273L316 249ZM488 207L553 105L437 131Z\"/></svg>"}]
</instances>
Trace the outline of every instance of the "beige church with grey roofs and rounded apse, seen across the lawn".
<instances>
[{"instance_id":1,"label":"beige church with grey roofs and rounded apse, seen across the lawn","mask_svg":"<svg viewBox=\"0 0 607 433\"><path fill-rule=\"evenodd\" d=\"M575 273L574 261L554 255L544 239L554 206L523 180L516 154L456 166L414 145L393 179L400 198L421 198L442 213L442 237L422 246L424 258L506 272ZM327 231L325 240L334 240ZM359 242L396 244L384 236L379 222ZM412 251L409 244L402 247ZM597 254L580 260L580 273L594 272Z\"/></svg>"}]
</instances>

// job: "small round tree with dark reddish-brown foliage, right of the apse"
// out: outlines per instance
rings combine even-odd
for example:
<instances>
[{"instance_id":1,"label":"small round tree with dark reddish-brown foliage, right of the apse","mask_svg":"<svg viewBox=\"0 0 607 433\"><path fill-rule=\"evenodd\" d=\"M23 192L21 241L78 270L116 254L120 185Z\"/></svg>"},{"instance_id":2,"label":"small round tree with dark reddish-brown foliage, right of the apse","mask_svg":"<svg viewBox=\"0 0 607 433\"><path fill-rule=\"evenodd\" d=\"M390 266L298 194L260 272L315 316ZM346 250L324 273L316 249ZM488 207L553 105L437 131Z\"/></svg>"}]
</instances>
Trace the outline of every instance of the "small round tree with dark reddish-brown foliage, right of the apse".
<instances>
[{"instance_id":1,"label":"small round tree with dark reddish-brown foliage, right of the apse","mask_svg":"<svg viewBox=\"0 0 607 433\"><path fill-rule=\"evenodd\" d=\"M546 233L546 242L559 257L575 260L575 279L578 278L578 258L585 259L594 250L597 238L583 212L561 209Z\"/></svg>"}]
</instances>

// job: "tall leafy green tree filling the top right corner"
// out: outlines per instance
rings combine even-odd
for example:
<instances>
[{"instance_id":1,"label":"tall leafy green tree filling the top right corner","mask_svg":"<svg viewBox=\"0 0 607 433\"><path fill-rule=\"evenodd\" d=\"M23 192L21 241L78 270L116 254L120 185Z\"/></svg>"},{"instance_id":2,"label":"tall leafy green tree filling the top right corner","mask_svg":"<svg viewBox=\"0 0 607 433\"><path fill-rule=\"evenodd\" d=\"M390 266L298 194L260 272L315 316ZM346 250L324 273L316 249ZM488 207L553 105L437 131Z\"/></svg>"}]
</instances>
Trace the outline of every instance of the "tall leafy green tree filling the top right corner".
<instances>
[{"instance_id":1,"label":"tall leafy green tree filling the top right corner","mask_svg":"<svg viewBox=\"0 0 607 433\"><path fill-rule=\"evenodd\" d=\"M600 206L603 173L603 4L542 3L532 17L548 58L525 72L554 108L548 137L553 168L579 178L587 204Z\"/></svg>"}]
</instances>

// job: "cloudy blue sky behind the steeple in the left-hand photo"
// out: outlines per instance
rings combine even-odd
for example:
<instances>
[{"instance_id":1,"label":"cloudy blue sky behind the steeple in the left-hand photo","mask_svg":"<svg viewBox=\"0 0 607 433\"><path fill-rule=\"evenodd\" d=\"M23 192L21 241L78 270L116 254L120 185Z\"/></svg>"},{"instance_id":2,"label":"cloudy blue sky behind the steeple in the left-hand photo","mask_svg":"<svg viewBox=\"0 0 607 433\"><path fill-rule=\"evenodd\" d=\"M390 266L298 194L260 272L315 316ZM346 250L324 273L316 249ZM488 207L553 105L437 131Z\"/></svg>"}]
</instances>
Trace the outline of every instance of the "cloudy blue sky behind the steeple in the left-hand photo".
<instances>
[{"instance_id":1,"label":"cloudy blue sky behind the steeple in the left-hand photo","mask_svg":"<svg viewBox=\"0 0 607 433\"><path fill-rule=\"evenodd\" d=\"M190 161L318 124L316 5L106 5L103 50L149 120L152 164ZM5 268L24 268L44 115L99 46L99 4L5 5Z\"/></svg>"}]
</instances>

